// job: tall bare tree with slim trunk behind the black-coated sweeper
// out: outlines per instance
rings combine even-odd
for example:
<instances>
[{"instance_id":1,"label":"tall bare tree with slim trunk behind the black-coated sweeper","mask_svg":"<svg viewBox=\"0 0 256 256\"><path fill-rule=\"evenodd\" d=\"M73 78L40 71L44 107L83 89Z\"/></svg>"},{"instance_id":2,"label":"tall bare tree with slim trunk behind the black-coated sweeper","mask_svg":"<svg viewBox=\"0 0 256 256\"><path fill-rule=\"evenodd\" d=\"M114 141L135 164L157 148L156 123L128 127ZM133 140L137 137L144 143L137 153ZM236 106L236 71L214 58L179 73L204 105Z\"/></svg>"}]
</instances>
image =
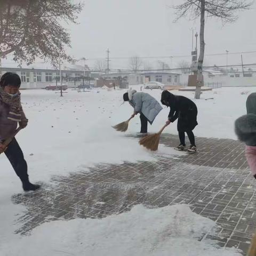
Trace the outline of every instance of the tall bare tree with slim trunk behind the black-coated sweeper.
<instances>
[{"instance_id":1,"label":"tall bare tree with slim trunk behind the black-coated sweeper","mask_svg":"<svg viewBox=\"0 0 256 256\"><path fill-rule=\"evenodd\" d=\"M182 17L195 20L200 17L200 54L197 63L197 82L195 99L200 98L201 86L203 84L203 61L204 61L204 27L206 17L215 17L222 20L222 23L234 22L237 20L236 13L249 9L253 1L247 0L183 0L182 4L174 6L178 21Z\"/></svg>"}]
</instances>

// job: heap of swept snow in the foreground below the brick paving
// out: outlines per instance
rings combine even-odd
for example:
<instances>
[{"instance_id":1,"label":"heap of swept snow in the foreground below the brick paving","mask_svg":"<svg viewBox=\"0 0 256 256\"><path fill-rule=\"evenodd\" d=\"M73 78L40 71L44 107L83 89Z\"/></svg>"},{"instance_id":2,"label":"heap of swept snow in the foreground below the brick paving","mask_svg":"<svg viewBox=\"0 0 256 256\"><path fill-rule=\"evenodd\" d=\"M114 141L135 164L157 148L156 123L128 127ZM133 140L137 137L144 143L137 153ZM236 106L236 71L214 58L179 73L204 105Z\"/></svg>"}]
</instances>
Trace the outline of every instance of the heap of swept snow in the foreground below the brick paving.
<instances>
[{"instance_id":1,"label":"heap of swept snow in the foreground below the brick paving","mask_svg":"<svg viewBox=\"0 0 256 256\"><path fill-rule=\"evenodd\" d=\"M191 212L186 205L158 209L137 205L130 212L101 220L44 223L30 236L13 237L1 255L241 256L236 249L197 241L214 226L214 221Z\"/></svg>"}]
</instances>

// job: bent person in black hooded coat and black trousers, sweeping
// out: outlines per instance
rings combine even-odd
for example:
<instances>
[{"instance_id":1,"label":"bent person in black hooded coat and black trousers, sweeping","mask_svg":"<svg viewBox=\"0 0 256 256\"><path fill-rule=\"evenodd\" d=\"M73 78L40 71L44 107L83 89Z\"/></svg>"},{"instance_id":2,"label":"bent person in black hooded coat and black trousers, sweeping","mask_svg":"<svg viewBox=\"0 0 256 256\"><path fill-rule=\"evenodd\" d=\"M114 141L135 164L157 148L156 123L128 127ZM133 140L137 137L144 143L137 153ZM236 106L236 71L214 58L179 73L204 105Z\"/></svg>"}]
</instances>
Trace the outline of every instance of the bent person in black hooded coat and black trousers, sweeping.
<instances>
[{"instance_id":1,"label":"bent person in black hooded coat and black trousers, sweeping","mask_svg":"<svg viewBox=\"0 0 256 256\"><path fill-rule=\"evenodd\" d=\"M195 152L196 144L193 130L198 124L197 107L195 103L186 97L174 95L169 91L162 92L161 102L163 105L170 107L170 113L166 122L167 125L173 123L178 118L177 129L180 139L180 145L178 146L178 149L184 150L186 147L186 132L190 141L190 147L188 151Z\"/></svg>"}]
</instances>

